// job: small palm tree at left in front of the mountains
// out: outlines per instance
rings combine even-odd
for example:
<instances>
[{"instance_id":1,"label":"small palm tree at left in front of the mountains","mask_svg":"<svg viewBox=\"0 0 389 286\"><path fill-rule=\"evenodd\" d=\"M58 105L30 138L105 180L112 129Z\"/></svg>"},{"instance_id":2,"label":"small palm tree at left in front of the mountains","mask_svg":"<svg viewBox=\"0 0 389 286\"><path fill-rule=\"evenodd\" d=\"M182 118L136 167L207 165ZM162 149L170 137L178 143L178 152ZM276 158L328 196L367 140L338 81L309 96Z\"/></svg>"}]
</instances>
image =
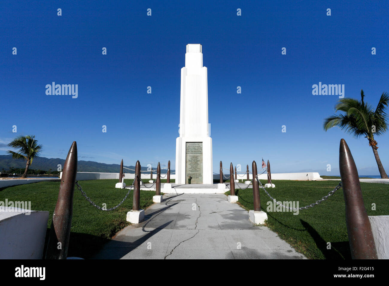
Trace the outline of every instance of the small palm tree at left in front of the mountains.
<instances>
[{"instance_id":1,"label":"small palm tree at left in front of the mountains","mask_svg":"<svg viewBox=\"0 0 389 286\"><path fill-rule=\"evenodd\" d=\"M35 135L21 135L16 137L11 143L8 144L8 146L12 148L19 148L19 153L14 151L7 151L7 153L12 154L12 158L27 160L26 170L22 175L22 178L25 178L27 175L28 167L30 167L32 164L33 158L38 157L40 151L42 151L42 145L37 145Z\"/></svg>"}]
</instances>

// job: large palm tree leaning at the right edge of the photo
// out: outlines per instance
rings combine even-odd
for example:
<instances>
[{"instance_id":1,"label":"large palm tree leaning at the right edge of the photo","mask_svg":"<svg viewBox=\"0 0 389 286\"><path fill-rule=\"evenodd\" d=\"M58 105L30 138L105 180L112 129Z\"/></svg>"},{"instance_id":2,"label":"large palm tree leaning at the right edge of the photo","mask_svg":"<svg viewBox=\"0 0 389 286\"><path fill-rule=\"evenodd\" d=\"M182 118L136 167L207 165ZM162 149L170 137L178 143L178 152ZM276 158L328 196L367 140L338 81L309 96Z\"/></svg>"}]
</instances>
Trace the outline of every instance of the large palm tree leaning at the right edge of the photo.
<instances>
[{"instance_id":1,"label":"large palm tree leaning at the right edge of the photo","mask_svg":"<svg viewBox=\"0 0 389 286\"><path fill-rule=\"evenodd\" d=\"M354 138L359 138L362 135L369 140L369 146L373 149L375 160L377 161L378 170L382 179L388 179L380 157L378 156L377 141L374 140L374 135L382 135L387 130L385 108L388 106L389 96L387 93L382 93L375 111L371 105L363 101L363 90L361 89L361 101L353 98L342 98L335 105L336 111L343 111L345 114L332 115L324 119L324 130L338 126L346 133Z\"/></svg>"}]
</instances>

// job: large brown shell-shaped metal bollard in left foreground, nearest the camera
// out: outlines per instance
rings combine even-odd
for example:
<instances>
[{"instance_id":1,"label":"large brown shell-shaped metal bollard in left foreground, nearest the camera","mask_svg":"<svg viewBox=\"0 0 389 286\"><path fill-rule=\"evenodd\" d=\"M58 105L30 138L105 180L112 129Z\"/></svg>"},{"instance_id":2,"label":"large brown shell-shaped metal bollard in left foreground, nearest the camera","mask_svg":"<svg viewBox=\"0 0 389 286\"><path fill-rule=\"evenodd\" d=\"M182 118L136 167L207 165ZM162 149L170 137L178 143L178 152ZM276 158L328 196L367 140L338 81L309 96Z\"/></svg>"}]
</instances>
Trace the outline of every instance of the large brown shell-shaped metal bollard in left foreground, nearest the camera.
<instances>
[{"instance_id":1,"label":"large brown shell-shaped metal bollard in left foreground, nearest the camera","mask_svg":"<svg viewBox=\"0 0 389 286\"><path fill-rule=\"evenodd\" d=\"M73 216L73 195L77 175L77 143L73 141L63 167L60 191L51 222L46 259L66 259ZM60 244L59 244L60 243ZM58 247L61 246L61 249Z\"/></svg>"}]
</instances>

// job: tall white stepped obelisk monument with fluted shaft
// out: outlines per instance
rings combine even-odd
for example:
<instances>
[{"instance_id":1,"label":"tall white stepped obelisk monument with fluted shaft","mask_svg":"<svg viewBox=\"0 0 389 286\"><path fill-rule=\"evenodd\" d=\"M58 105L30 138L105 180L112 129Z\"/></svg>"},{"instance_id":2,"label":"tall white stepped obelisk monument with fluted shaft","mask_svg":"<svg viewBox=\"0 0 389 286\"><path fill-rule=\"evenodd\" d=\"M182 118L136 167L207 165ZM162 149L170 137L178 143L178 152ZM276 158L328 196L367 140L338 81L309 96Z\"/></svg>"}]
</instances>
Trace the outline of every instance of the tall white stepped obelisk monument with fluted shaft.
<instances>
[{"instance_id":1,"label":"tall white stepped obelisk monument with fluted shaft","mask_svg":"<svg viewBox=\"0 0 389 286\"><path fill-rule=\"evenodd\" d=\"M180 137L176 139L175 183L213 184L212 138L208 129L208 79L202 46L187 44L181 68Z\"/></svg>"}]
</instances>

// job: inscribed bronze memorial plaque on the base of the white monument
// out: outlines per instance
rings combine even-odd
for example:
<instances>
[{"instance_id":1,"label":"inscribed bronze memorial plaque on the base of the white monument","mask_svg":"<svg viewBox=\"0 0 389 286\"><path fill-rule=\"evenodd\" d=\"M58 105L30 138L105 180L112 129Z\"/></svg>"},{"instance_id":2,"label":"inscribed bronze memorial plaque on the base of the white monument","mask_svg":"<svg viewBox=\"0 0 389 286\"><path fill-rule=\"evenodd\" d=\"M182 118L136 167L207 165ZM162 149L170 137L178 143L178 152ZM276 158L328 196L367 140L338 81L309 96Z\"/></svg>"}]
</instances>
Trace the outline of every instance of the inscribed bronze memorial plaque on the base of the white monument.
<instances>
[{"instance_id":1,"label":"inscribed bronze memorial plaque on the base of the white monument","mask_svg":"<svg viewBox=\"0 0 389 286\"><path fill-rule=\"evenodd\" d=\"M203 142L186 142L186 177L185 183L203 183Z\"/></svg>"}]
</instances>

